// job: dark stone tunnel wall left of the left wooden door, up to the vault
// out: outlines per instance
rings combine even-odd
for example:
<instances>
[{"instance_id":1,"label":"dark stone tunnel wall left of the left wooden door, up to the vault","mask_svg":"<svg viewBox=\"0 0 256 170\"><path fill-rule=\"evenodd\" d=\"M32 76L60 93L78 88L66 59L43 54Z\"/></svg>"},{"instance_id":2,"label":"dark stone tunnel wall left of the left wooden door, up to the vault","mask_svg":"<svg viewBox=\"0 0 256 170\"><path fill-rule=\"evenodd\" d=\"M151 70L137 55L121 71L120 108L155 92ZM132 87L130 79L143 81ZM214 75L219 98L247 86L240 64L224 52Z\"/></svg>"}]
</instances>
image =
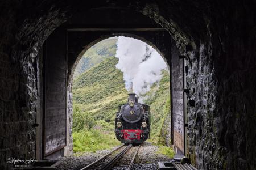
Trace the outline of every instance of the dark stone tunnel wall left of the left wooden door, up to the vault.
<instances>
[{"instance_id":1,"label":"dark stone tunnel wall left of the left wooden door, up to the vault","mask_svg":"<svg viewBox=\"0 0 256 170\"><path fill-rule=\"evenodd\" d=\"M35 15L34 8L25 6L18 1L0 3L0 169L12 167L6 164L8 158L36 158L38 52L65 20L64 15L58 19L55 8Z\"/></svg>"}]
</instances>

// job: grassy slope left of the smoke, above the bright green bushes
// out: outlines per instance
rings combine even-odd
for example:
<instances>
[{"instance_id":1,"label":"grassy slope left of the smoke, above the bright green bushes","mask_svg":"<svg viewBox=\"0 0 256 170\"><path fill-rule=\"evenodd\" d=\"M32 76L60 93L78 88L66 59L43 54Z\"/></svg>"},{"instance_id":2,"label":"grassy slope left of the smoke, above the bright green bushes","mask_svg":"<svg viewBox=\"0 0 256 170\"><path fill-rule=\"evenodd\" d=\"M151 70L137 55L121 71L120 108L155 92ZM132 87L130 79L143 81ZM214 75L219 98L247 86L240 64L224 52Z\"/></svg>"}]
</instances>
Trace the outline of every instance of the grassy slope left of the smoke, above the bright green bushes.
<instances>
[{"instance_id":1,"label":"grassy slope left of the smoke, above the bright green bushes","mask_svg":"<svg viewBox=\"0 0 256 170\"><path fill-rule=\"evenodd\" d=\"M118 58L109 57L82 73L73 82L73 103L96 120L114 124L118 105L127 100L123 74L115 68Z\"/></svg>"}]
</instances>

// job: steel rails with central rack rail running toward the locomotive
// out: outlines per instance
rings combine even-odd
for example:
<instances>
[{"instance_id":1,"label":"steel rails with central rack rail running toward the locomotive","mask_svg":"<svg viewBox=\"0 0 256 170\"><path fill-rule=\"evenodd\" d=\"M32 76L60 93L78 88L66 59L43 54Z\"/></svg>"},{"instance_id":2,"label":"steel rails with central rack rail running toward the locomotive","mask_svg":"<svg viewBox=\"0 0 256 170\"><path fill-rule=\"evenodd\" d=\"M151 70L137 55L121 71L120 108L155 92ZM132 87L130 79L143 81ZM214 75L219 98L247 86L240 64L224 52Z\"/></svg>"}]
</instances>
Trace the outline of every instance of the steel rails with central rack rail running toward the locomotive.
<instances>
[{"instance_id":1,"label":"steel rails with central rack rail running toward the locomotive","mask_svg":"<svg viewBox=\"0 0 256 170\"><path fill-rule=\"evenodd\" d=\"M104 160L104 159L108 158L108 156L110 156L113 152L119 150L122 147L124 147L123 150L121 150L117 155L115 155L114 158L110 159L108 163L106 163L104 165L101 164L101 160ZM128 150L130 150L131 147L133 147L131 144L126 146L126 147L124 145L121 145L118 148L115 148L113 151L109 152L108 154L102 156L100 159L97 159L93 163L90 163L89 165L87 165L86 167L84 167L80 170L92 169L93 167L94 168L97 167L97 169L101 169L101 170L111 169L115 165L115 163L117 163L117 160L119 158L121 158L123 155L125 155L125 153ZM127 168L127 170L130 170L131 167L133 166L133 163L134 163L135 157L138 153L139 147L140 146L137 147L137 149L136 149L136 151L133 155L133 159L131 159L131 162L130 162L129 167ZM98 168L98 167L101 167L101 168Z\"/></svg>"}]
</instances>

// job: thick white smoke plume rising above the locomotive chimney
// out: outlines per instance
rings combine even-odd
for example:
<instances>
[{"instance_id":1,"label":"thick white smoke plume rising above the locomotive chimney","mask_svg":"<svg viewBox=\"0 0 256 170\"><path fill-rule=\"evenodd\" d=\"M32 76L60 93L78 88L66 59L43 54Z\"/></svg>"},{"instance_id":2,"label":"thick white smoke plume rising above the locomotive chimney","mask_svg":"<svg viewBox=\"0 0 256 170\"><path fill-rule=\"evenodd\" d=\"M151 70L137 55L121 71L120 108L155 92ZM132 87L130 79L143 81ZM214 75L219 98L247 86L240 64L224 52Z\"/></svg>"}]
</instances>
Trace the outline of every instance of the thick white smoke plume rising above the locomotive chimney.
<instances>
[{"instance_id":1,"label":"thick white smoke plume rising above the locomotive chimney","mask_svg":"<svg viewBox=\"0 0 256 170\"><path fill-rule=\"evenodd\" d=\"M125 87L129 92L144 94L161 79L162 69L167 69L160 54L145 42L129 37L118 37L116 67L123 72Z\"/></svg>"}]
</instances>

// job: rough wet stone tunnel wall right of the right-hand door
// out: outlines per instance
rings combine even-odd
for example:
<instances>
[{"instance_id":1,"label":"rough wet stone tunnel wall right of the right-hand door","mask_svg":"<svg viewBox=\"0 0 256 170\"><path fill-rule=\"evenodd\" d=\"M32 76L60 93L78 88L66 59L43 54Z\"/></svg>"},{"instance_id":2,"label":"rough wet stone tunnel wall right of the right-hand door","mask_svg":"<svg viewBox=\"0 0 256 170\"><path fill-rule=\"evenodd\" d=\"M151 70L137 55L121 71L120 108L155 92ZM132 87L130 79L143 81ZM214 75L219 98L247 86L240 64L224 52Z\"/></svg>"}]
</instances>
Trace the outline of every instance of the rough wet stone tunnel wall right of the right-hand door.
<instances>
[{"instance_id":1,"label":"rough wet stone tunnel wall right of the right-hand door","mask_svg":"<svg viewBox=\"0 0 256 170\"><path fill-rule=\"evenodd\" d=\"M256 34L251 5L213 3L221 12L210 14L209 41L200 42L189 55L187 87L196 101L188 108L189 151L200 169L255 167ZM232 10L225 8L229 6Z\"/></svg>"}]
</instances>

